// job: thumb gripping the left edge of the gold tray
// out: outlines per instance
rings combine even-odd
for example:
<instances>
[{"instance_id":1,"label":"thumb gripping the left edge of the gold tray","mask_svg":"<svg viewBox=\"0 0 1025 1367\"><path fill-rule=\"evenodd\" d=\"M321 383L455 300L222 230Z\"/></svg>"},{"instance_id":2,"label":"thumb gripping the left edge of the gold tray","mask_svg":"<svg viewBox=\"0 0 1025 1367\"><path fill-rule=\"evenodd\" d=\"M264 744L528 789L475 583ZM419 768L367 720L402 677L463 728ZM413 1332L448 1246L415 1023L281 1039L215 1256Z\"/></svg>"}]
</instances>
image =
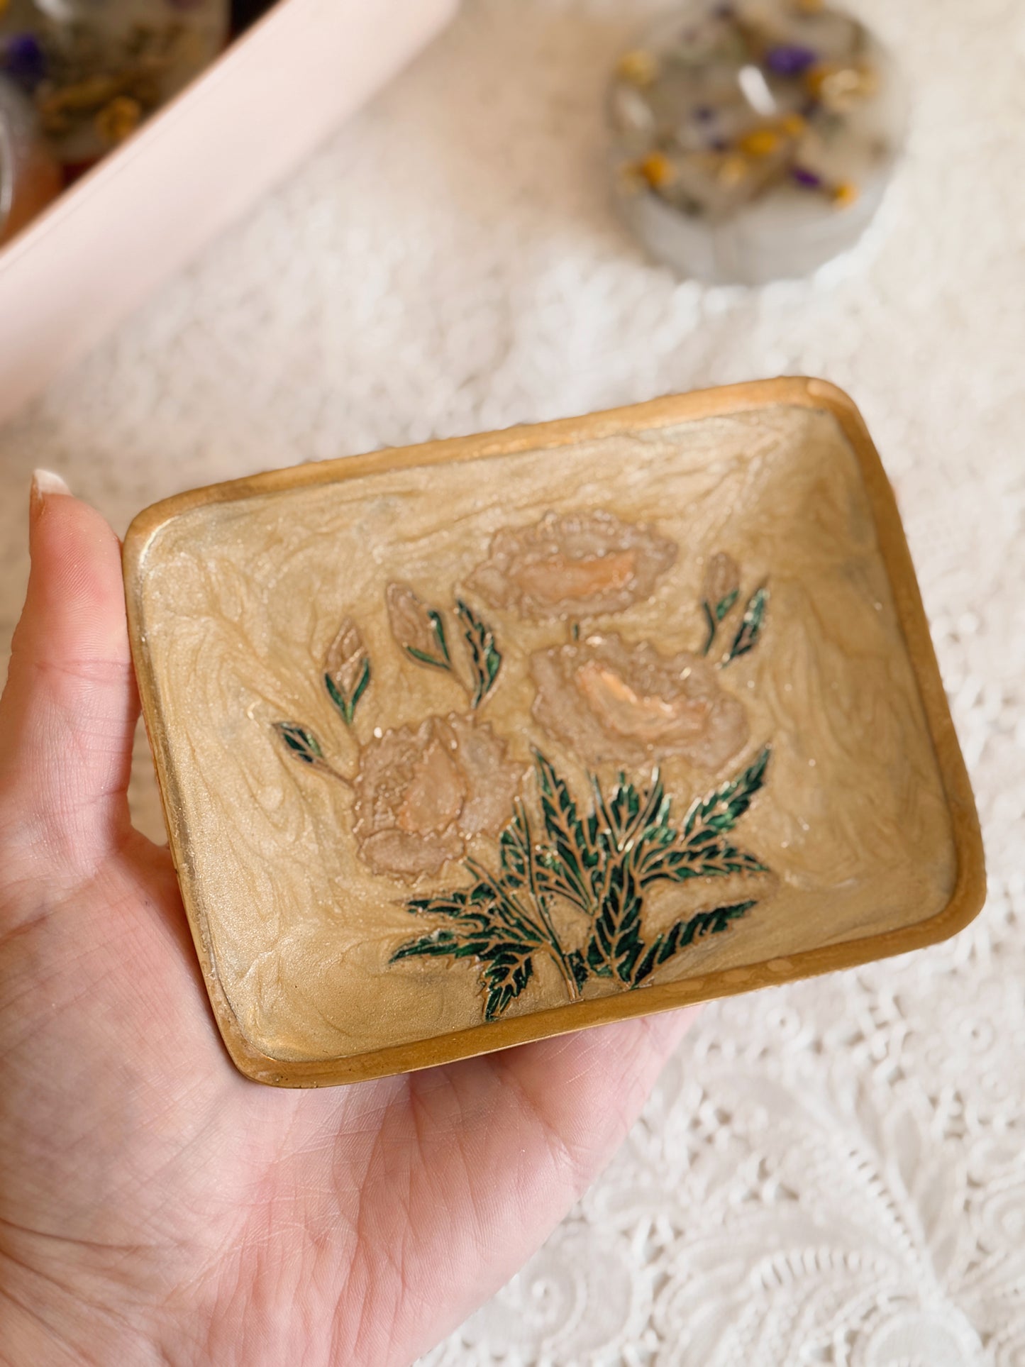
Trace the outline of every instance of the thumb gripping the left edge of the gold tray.
<instances>
[{"instance_id":1,"label":"thumb gripping the left edge of the gold tray","mask_svg":"<svg viewBox=\"0 0 1025 1367\"><path fill-rule=\"evenodd\" d=\"M29 502L31 573L0 700L0 812L66 867L94 868L128 824L138 700L120 544L46 470Z\"/></svg>"}]
</instances>

